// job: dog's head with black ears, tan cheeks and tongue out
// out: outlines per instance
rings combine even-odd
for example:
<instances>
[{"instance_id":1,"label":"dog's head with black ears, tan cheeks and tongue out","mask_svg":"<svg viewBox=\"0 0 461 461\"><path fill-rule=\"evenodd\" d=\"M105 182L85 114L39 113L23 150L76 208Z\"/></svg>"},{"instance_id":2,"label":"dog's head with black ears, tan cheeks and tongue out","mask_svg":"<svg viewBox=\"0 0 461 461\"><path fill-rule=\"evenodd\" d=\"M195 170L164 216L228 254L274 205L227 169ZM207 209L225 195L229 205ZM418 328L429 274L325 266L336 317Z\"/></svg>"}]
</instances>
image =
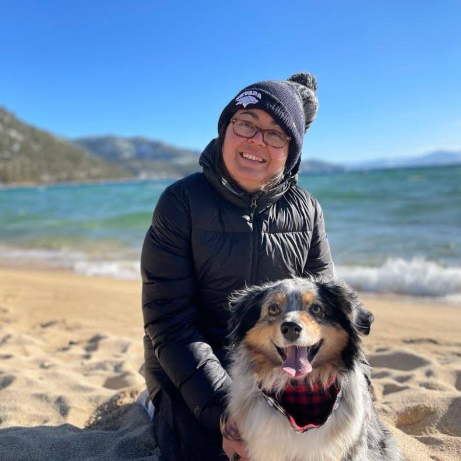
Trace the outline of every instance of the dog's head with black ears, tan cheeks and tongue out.
<instances>
[{"instance_id":1,"label":"dog's head with black ears, tan cheeks and tongue out","mask_svg":"<svg viewBox=\"0 0 461 461\"><path fill-rule=\"evenodd\" d=\"M286 279L248 288L231 300L231 345L244 347L262 378L326 382L350 368L373 316L346 285Z\"/></svg>"}]
</instances>

